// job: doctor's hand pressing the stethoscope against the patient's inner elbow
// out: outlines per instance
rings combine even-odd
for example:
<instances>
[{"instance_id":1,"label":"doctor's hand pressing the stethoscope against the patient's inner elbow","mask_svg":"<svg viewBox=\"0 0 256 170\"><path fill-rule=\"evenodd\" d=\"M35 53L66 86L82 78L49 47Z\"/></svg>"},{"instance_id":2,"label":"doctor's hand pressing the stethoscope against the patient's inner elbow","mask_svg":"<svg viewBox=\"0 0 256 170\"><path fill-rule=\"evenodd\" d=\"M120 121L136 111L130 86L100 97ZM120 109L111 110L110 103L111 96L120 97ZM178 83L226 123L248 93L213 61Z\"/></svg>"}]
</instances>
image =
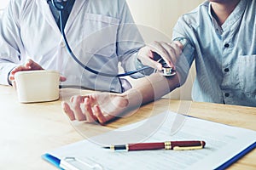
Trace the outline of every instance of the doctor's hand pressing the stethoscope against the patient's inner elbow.
<instances>
[{"instance_id":1,"label":"doctor's hand pressing the stethoscope against the patient's inner elbow","mask_svg":"<svg viewBox=\"0 0 256 170\"><path fill-rule=\"evenodd\" d=\"M159 59L164 59L166 64L175 70L178 57L182 54L183 44L174 42L152 42L141 48L137 54L143 65L148 65L157 70L162 70Z\"/></svg>"}]
</instances>

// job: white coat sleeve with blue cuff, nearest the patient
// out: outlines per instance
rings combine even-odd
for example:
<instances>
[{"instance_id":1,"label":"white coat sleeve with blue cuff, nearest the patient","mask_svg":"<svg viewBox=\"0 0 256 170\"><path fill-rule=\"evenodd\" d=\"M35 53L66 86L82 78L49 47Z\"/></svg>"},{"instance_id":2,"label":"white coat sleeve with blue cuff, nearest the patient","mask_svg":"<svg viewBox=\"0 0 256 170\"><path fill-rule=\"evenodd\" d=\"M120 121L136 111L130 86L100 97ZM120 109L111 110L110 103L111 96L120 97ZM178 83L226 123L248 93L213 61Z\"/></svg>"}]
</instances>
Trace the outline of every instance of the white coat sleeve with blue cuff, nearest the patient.
<instances>
[{"instance_id":1,"label":"white coat sleeve with blue cuff, nearest the patient","mask_svg":"<svg viewBox=\"0 0 256 170\"><path fill-rule=\"evenodd\" d=\"M137 60L137 52L140 48L143 48L145 44L125 1L119 1L119 18L120 23L117 35L117 54L125 72L135 71L144 66ZM151 74L153 71L154 69L149 68L131 75L131 77L144 77L145 75Z\"/></svg>"}]
</instances>

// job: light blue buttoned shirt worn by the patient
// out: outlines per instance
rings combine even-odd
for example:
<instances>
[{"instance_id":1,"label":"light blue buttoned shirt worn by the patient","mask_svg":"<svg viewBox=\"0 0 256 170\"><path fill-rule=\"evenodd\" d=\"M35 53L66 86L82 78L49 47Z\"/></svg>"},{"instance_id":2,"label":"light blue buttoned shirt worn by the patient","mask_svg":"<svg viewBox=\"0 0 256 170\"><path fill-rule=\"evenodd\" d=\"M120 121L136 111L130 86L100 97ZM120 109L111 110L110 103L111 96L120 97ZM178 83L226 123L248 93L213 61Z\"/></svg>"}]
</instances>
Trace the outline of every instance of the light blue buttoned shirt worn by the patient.
<instances>
[{"instance_id":1,"label":"light blue buttoned shirt worn by the patient","mask_svg":"<svg viewBox=\"0 0 256 170\"><path fill-rule=\"evenodd\" d=\"M202 3L177 21L173 39L185 37L183 54L195 59L192 99L256 106L256 3L241 0L222 26Z\"/></svg>"}]
</instances>

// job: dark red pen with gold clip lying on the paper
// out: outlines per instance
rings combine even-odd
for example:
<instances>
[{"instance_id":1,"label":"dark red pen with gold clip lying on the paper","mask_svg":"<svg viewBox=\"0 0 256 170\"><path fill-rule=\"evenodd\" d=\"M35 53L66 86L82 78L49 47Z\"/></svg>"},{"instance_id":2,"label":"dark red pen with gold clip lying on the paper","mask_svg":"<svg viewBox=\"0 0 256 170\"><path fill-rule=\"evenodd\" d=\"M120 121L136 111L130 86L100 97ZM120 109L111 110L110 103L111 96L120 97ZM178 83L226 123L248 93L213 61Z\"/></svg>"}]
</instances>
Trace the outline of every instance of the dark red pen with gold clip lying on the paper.
<instances>
[{"instance_id":1,"label":"dark red pen with gold clip lying on the paper","mask_svg":"<svg viewBox=\"0 0 256 170\"><path fill-rule=\"evenodd\" d=\"M120 144L105 146L104 149L110 150L198 150L204 148L204 141L167 141L158 143L138 143L138 144Z\"/></svg>"}]
</instances>

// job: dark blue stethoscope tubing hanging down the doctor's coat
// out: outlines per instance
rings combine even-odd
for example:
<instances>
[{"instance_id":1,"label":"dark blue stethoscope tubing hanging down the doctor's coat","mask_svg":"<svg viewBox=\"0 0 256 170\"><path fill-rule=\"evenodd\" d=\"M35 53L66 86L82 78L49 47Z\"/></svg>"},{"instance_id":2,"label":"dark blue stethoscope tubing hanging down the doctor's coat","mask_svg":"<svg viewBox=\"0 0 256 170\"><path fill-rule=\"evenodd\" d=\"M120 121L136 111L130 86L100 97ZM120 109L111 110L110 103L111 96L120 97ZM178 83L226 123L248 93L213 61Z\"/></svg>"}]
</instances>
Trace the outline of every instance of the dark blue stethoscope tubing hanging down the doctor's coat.
<instances>
[{"instance_id":1,"label":"dark blue stethoscope tubing hanging down the doctor's coat","mask_svg":"<svg viewBox=\"0 0 256 170\"><path fill-rule=\"evenodd\" d=\"M108 74L108 73L104 73L104 72L100 72L100 71L95 71L93 69L91 69L90 67L84 65L76 56L75 54L73 54L73 51L72 49L70 48L68 42L67 42L67 37L66 37L66 34L65 34L65 31L64 31L64 23L63 23L63 10L65 8L67 8L68 4L69 4L70 1L67 1L67 0L51 0L51 3L53 4L53 6L59 11L60 13L60 27L61 27L61 35L64 39L64 42L65 42L65 45L67 47L67 51L68 53L71 55L71 57L75 60L76 63L78 63L81 67L83 67L85 70L87 71L90 71L96 75L100 75L100 76L103 76L103 77L126 77L126 76L130 76L132 74L135 74L137 72L140 72L140 71L144 71L148 68L151 68L149 66L143 66L143 68L140 68L140 69L137 69L135 71L127 71L125 73L122 73L122 74L118 74L118 75L113 75L113 74ZM65 4L66 3L66 4Z\"/></svg>"}]
</instances>

